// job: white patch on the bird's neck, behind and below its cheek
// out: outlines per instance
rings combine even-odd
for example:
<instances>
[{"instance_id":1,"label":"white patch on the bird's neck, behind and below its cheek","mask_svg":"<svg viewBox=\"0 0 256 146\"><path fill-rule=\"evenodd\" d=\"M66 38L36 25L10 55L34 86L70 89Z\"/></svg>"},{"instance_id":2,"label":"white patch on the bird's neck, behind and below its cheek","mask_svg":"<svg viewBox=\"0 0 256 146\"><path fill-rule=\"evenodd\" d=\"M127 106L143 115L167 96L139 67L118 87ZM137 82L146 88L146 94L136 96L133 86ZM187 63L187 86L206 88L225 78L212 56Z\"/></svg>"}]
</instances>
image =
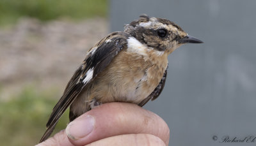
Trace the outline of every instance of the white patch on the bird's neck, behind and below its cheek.
<instances>
[{"instance_id":1,"label":"white patch on the bird's neck, behind and below its cheek","mask_svg":"<svg viewBox=\"0 0 256 146\"><path fill-rule=\"evenodd\" d=\"M128 52L135 52L138 53L140 55L143 56L148 56L147 54L147 50L148 47L146 45L143 45L142 43L140 43L140 41L138 41L136 38L134 37L129 37L127 40L127 51Z\"/></svg>"}]
</instances>

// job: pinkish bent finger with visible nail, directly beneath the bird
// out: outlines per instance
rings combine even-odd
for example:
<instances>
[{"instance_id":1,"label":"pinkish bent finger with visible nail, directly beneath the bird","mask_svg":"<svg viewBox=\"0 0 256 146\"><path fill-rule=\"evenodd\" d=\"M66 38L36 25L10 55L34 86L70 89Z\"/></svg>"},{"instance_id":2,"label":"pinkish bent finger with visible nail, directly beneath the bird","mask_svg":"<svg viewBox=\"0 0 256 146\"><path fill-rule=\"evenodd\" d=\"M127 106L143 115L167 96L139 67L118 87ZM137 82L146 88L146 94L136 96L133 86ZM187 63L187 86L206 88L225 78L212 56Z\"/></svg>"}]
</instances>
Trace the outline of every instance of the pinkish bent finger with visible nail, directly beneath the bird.
<instances>
[{"instance_id":1,"label":"pinkish bent finger with visible nail, directly beneath the bird","mask_svg":"<svg viewBox=\"0 0 256 146\"><path fill-rule=\"evenodd\" d=\"M161 117L131 103L105 103L84 113L66 128L70 142L86 145L116 135L145 133L166 145L170 131Z\"/></svg>"}]
</instances>

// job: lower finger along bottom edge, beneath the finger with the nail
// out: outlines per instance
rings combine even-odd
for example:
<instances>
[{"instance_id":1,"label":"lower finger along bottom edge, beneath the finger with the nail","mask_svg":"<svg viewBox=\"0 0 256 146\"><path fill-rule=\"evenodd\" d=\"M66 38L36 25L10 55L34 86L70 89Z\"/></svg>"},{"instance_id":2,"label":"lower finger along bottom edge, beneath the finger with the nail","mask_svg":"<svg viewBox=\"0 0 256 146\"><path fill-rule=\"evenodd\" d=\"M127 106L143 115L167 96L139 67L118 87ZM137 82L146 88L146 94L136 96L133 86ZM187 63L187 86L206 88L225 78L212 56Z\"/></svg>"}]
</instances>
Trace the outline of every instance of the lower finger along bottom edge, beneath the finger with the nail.
<instances>
[{"instance_id":1,"label":"lower finger along bottom edge, beneath the finger with the nail","mask_svg":"<svg viewBox=\"0 0 256 146\"><path fill-rule=\"evenodd\" d=\"M122 145L122 146L130 146L130 145L165 145L163 140L154 135L148 134L129 134L129 135L117 135L109 138L104 138L102 140L98 140L96 142L90 143L86 146L97 146L97 145Z\"/></svg>"}]
</instances>

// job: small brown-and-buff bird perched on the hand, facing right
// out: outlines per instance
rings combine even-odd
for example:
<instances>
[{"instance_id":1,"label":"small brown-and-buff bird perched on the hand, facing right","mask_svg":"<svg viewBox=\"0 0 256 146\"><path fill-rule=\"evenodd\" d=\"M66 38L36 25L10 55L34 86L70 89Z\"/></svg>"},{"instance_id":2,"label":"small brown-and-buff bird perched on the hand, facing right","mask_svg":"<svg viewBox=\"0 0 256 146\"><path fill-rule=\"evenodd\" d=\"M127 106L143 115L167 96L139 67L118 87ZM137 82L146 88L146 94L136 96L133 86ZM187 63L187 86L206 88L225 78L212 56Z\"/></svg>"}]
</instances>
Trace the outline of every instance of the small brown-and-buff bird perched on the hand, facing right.
<instances>
[{"instance_id":1,"label":"small brown-and-buff bird perched on the hand, facing right","mask_svg":"<svg viewBox=\"0 0 256 146\"><path fill-rule=\"evenodd\" d=\"M203 43L174 22L146 14L108 34L86 53L46 124L44 142L70 106L70 122L109 102L138 106L153 101L166 82L168 55L186 43Z\"/></svg>"}]
</instances>

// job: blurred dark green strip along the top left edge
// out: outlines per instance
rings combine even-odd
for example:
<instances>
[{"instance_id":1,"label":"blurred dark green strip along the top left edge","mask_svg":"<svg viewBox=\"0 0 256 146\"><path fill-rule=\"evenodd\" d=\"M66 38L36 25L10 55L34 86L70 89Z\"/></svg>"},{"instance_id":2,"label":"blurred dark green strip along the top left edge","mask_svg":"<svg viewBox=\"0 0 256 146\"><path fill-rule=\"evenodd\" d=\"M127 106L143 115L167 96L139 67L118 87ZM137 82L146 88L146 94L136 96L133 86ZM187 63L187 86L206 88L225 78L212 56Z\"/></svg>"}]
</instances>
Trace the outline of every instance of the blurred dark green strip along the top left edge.
<instances>
[{"instance_id":1,"label":"blurred dark green strip along the top left edge","mask_svg":"<svg viewBox=\"0 0 256 146\"><path fill-rule=\"evenodd\" d=\"M69 17L81 20L95 16L106 17L106 0L1 0L0 24L12 24L20 17L33 17L42 21Z\"/></svg>"}]
</instances>

